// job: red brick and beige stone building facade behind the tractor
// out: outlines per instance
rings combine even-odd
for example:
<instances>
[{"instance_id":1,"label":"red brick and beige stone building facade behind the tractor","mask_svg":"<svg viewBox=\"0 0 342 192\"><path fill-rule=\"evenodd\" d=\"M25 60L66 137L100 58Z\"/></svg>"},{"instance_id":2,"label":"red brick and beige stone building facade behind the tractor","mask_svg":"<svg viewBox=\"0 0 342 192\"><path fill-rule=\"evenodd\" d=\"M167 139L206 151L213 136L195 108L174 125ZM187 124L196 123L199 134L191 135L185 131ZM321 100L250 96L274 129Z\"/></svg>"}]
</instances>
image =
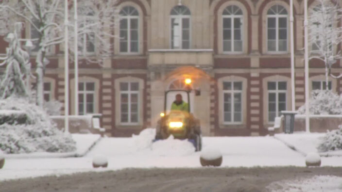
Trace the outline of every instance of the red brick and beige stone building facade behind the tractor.
<instances>
[{"instance_id":1,"label":"red brick and beige stone building facade behind the tractor","mask_svg":"<svg viewBox=\"0 0 342 192\"><path fill-rule=\"evenodd\" d=\"M163 78L190 65L211 77L196 85L202 94L190 103L204 135L268 134L279 111L291 110L289 1L120 0L121 20L114 33L122 38L113 40L112 57L103 65L84 64L81 57L80 112L102 113L109 136L155 127L164 92L182 86L180 79ZM296 108L305 102L303 14L304 1L294 0ZM53 51L45 98L64 102L64 58L59 46ZM324 64L311 60L309 66L310 90L322 89ZM340 74L340 66L339 60L333 72ZM70 63L70 114L73 67ZM330 79L329 87L340 94L341 83Z\"/></svg>"}]
</instances>

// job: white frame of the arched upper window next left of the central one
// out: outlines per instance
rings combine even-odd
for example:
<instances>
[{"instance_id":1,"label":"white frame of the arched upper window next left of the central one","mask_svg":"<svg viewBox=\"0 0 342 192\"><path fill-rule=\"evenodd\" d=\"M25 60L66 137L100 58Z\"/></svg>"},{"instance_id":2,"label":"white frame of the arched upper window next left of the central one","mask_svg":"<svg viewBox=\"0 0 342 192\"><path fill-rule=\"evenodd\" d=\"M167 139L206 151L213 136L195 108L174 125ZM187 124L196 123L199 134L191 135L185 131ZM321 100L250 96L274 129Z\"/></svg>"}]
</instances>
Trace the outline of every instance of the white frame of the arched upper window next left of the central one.
<instances>
[{"instance_id":1,"label":"white frame of the arched upper window next left of the central one","mask_svg":"<svg viewBox=\"0 0 342 192\"><path fill-rule=\"evenodd\" d=\"M130 5L128 5L129 7L133 7L133 6L130 6ZM127 7L127 6L124 6L124 7L122 7L121 8L121 10L123 9L123 8L125 8L125 7ZM129 16L119 16L120 17L120 21L121 21L121 19L127 19L127 29L125 29L125 30L127 30L127 51L126 52L123 52L123 51L121 51L121 49L120 49L120 44L121 44L121 41L120 41L120 39L119 39L119 52L120 52L120 54L127 54L127 55L132 55L132 54L138 54L139 53L139 48L140 48L140 46L139 46L139 11L137 10L137 8L135 8L135 7L133 7L136 11L137 11L137 13L138 13L138 15L137 16L132 16L132 15L129 15ZM132 19L137 19L137 51L131 51L131 20ZM120 26L120 22L119 22L119 37L120 37L120 31L121 31L121 26Z\"/></svg>"}]
</instances>

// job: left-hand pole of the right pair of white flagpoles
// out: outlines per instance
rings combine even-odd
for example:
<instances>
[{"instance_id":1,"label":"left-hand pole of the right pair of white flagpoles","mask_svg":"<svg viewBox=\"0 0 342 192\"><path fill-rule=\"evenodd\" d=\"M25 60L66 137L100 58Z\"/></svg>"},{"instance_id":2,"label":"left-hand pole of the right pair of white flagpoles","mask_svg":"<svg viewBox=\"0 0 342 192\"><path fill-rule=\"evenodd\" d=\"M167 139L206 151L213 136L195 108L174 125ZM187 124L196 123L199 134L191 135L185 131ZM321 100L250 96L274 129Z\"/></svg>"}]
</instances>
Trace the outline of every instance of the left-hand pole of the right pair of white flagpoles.
<instances>
[{"instance_id":1,"label":"left-hand pole of the right pair of white flagpoles","mask_svg":"<svg viewBox=\"0 0 342 192\"><path fill-rule=\"evenodd\" d=\"M291 28L291 106L292 111L296 110L295 107L295 87L294 87L294 34L293 34L293 0L290 0L290 28Z\"/></svg>"}]
</instances>

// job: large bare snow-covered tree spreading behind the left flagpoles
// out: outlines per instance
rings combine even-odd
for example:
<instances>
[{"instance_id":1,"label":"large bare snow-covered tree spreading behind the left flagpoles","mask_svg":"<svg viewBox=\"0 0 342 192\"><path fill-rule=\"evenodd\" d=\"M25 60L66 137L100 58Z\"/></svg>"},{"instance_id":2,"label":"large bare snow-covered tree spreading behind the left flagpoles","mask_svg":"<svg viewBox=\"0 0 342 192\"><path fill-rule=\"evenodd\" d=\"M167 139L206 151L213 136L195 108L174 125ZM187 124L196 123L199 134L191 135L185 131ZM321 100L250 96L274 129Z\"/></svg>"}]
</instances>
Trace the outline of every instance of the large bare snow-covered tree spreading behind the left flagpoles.
<instances>
[{"instance_id":1,"label":"large bare snow-covered tree spreading behind the left flagpoles","mask_svg":"<svg viewBox=\"0 0 342 192\"><path fill-rule=\"evenodd\" d=\"M91 54L83 54L82 59L101 64L111 51L110 39L115 26L116 0L78 0L78 35L79 51L84 45L92 46ZM72 0L69 0L69 11L73 10ZM36 51L36 102L43 107L43 76L45 67L49 63L49 51L64 41L64 0L1 0L1 23L6 25L3 29L11 29L13 19L30 25L31 38L37 46ZM73 14L69 14L72 21ZM70 43L68 52L73 51L72 23L68 23ZM81 41L82 40L82 41ZM84 44L82 44L82 42ZM81 52L82 53L82 52Z\"/></svg>"}]
</instances>

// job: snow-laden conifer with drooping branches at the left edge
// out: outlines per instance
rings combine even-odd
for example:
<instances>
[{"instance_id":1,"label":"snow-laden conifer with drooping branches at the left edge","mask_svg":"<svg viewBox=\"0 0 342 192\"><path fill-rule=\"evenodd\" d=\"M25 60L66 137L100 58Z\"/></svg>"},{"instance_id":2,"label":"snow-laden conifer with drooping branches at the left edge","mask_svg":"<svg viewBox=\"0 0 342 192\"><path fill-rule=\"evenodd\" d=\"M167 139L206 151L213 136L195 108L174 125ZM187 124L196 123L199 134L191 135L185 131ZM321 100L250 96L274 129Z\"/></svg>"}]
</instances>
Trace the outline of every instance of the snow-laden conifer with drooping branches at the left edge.
<instances>
[{"instance_id":1,"label":"snow-laden conifer with drooping branches at the left edge","mask_svg":"<svg viewBox=\"0 0 342 192\"><path fill-rule=\"evenodd\" d=\"M21 33L22 23L15 24L14 32L5 37L9 47L6 48L6 56L0 57L6 64L5 74L0 83L0 98L9 96L29 96L29 84L31 76L31 63L29 54L21 48L18 35Z\"/></svg>"}]
</instances>

